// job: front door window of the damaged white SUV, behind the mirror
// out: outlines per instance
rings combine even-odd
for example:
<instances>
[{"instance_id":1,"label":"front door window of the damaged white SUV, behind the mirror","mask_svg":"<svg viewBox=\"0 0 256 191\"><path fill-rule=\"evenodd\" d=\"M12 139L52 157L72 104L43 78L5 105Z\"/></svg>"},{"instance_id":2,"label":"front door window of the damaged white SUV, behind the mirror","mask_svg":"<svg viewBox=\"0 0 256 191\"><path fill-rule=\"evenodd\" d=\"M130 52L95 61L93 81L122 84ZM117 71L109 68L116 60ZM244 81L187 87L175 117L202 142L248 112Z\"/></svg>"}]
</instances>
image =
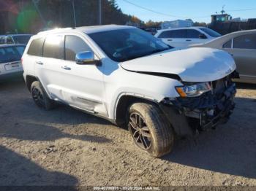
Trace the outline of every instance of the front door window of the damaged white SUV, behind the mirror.
<instances>
[{"instance_id":1,"label":"front door window of the damaged white SUV, behind the mirror","mask_svg":"<svg viewBox=\"0 0 256 191\"><path fill-rule=\"evenodd\" d=\"M91 51L91 48L78 36L65 36L65 60L75 61L75 55L79 52Z\"/></svg>"}]
</instances>

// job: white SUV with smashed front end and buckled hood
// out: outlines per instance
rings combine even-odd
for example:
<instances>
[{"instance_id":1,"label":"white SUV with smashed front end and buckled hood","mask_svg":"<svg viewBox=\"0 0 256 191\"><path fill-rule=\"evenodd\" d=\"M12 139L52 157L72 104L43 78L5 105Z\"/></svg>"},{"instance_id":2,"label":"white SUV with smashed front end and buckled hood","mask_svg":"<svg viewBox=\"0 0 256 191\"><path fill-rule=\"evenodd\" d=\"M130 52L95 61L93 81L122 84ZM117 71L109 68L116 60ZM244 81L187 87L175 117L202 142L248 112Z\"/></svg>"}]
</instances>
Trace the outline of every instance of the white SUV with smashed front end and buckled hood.
<instances>
[{"instance_id":1,"label":"white SUV with smashed front end and buckled hood","mask_svg":"<svg viewBox=\"0 0 256 191\"><path fill-rule=\"evenodd\" d=\"M55 101L129 128L154 157L174 136L225 122L234 108L236 65L221 50L175 50L135 27L93 26L41 32L23 54L35 104Z\"/></svg>"}]
</instances>

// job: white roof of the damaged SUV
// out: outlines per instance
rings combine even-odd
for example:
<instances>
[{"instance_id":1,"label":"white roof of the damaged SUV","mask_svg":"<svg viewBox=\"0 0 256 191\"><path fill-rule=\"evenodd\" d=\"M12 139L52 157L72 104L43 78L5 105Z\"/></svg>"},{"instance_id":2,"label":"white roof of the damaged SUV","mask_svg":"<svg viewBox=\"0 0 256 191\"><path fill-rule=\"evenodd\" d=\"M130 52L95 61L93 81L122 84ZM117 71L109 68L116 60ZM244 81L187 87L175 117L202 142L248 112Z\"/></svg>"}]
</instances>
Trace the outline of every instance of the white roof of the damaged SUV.
<instances>
[{"instance_id":1,"label":"white roof of the damaged SUV","mask_svg":"<svg viewBox=\"0 0 256 191\"><path fill-rule=\"evenodd\" d=\"M125 28L135 28L133 26L117 26L117 25L105 25L105 26L81 26L77 28L56 28L53 30L42 31L38 34L50 34L50 33L58 33L58 32L70 32L70 31L80 31L86 34L92 34L102 31L112 31L118 29L125 29Z\"/></svg>"}]
</instances>

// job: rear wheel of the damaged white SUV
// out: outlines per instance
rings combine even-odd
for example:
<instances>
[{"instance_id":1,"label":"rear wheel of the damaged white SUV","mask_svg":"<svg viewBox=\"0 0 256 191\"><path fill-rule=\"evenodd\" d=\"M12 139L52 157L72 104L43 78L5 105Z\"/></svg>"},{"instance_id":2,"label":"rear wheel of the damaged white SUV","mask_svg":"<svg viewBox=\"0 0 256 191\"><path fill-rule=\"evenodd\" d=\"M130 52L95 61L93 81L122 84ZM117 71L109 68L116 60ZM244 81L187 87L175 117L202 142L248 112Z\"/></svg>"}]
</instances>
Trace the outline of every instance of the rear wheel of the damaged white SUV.
<instances>
[{"instance_id":1,"label":"rear wheel of the damaged white SUV","mask_svg":"<svg viewBox=\"0 0 256 191\"><path fill-rule=\"evenodd\" d=\"M48 98L47 93L43 90L42 85L38 81L34 81L30 88L31 96L34 103L42 109L50 110L55 107L55 103Z\"/></svg>"}]
</instances>

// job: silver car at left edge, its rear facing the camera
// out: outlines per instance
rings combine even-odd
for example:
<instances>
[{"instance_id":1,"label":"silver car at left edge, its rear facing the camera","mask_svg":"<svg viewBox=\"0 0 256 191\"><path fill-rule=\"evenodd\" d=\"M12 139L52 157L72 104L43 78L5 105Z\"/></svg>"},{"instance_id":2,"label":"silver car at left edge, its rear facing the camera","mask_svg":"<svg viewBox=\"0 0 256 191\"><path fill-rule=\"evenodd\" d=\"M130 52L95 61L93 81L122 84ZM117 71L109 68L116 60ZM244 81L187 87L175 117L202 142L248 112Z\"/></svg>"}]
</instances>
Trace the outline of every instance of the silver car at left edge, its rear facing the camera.
<instances>
[{"instance_id":1,"label":"silver car at left edge, its rear facing the camera","mask_svg":"<svg viewBox=\"0 0 256 191\"><path fill-rule=\"evenodd\" d=\"M20 59L26 48L24 44L0 45L0 82L3 79L22 77Z\"/></svg>"}]
</instances>

